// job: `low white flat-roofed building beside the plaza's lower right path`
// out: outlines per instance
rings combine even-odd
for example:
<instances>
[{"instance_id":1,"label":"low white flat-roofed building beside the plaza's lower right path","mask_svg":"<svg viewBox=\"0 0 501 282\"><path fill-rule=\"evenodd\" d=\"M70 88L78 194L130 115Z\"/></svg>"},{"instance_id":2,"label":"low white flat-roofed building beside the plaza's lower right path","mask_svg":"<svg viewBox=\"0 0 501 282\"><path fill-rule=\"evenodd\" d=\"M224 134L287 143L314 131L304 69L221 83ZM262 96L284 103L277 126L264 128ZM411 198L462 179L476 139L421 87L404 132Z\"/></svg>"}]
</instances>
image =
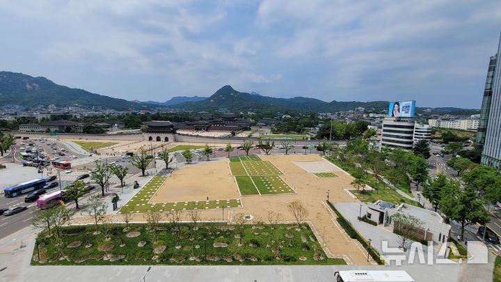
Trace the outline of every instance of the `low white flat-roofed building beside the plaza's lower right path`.
<instances>
[{"instance_id":1,"label":"low white flat-roofed building beside the plaza's lower right path","mask_svg":"<svg viewBox=\"0 0 501 282\"><path fill-rule=\"evenodd\" d=\"M417 239L443 243L447 242L450 237L451 226L445 224L438 212L406 203L399 206L381 200L376 203L367 203L367 218L375 221L376 224L392 226L393 230L400 228L392 221L392 215L397 213L411 215L420 220L420 227L417 228L417 234L415 234L418 236Z\"/></svg>"}]
</instances>

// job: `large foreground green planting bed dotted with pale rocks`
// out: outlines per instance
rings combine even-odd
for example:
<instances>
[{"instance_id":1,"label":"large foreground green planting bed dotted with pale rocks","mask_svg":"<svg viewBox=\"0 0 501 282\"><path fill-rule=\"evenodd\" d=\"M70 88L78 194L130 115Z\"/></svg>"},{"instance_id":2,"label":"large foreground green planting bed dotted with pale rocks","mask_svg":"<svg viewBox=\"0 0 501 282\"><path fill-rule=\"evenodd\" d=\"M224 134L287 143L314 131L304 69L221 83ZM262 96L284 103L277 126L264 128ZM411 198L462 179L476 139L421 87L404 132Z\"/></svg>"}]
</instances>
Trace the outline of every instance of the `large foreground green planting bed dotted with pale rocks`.
<instances>
[{"instance_id":1,"label":"large foreground green planting bed dotted with pale rocks","mask_svg":"<svg viewBox=\"0 0 501 282\"><path fill-rule=\"evenodd\" d=\"M66 226L59 237L61 244L54 235L38 235L40 260L35 246L31 265L346 264L342 258L327 258L306 224L299 231L287 224L244 224L242 244L237 238L240 226L220 223L197 227L159 224L155 236L145 224L130 224L127 233L125 225L106 224L97 235L95 226ZM136 237L131 237L132 232Z\"/></svg>"}]
</instances>

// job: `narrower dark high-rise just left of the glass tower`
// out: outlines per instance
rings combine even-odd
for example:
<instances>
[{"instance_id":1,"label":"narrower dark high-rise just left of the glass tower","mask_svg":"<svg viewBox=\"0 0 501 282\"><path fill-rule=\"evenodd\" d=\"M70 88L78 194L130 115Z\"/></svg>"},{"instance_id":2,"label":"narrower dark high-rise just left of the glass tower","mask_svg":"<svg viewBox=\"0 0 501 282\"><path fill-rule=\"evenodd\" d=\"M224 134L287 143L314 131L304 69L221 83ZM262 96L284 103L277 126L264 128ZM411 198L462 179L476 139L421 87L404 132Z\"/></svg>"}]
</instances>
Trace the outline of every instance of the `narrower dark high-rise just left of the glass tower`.
<instances>
[{"instance_id":1,"label":"narrower dark high-rise just left of the glass tower","mask_svg":"<svg viewBox=\"0 0 501 282\"><path fill-rule=\"evenodd\" d=\"M494 81L494 71L495 62L497 54L491 56L489 60L489 66L487 69L486 85L484 88L484 99L482 99L482 109L480 109L479 127L477 130L477 139L475 140L475 147L478 149L484 148L485 134L487 130L487 121L489 110L491 108L493 81Z\"/></svg>"}]
</instances>

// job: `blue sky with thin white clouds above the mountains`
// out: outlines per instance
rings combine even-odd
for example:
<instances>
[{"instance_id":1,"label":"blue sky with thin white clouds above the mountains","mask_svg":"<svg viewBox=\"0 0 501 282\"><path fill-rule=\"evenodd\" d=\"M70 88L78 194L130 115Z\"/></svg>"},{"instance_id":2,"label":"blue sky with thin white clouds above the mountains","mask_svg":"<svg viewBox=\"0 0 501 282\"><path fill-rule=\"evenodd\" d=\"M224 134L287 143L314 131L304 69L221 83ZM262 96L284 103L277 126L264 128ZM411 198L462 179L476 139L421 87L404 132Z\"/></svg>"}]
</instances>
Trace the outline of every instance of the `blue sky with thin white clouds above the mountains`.
<instances>
[{"instance_id":1,"label":"blue sky with thin white clouds above the mountains","mask_svg":"<svg viewBox=\"0 0 501 282\"><path fill-rule=\"evenodd\" d=\"M127 100L238 91L479 108L501 1L0 0L1 70Z\"/></svg>"}]
</instances>

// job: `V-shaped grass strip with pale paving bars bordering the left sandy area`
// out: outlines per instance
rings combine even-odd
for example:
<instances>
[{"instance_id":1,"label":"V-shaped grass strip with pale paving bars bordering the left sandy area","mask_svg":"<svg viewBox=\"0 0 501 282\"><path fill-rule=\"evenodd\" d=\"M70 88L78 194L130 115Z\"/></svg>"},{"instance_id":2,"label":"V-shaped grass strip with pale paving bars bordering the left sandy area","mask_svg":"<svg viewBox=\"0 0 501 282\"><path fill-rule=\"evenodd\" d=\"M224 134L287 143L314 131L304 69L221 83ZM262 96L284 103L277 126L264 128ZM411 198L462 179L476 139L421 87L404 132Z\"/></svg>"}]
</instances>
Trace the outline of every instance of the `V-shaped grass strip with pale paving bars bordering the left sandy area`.
<instances>
[{"instance_id":1,"label":"V-shaped grass strip with pale paving bars bordering the left sandy area","mask_svg":"<svg viewBox=\"0 0 501 282\"><path fill-rule=\"evenodd\" d=\"M132 208L134 212L150 212L158 208L162 212L171 210L207 210L221 207L241 207L240 199L210 200L210 201L180 201L168 203L148 203L152 196L161 187L166 176L155 176L139 190L124 206ZM123 207L122 207L123 208Z\"/></svg>"}]
</instances>

